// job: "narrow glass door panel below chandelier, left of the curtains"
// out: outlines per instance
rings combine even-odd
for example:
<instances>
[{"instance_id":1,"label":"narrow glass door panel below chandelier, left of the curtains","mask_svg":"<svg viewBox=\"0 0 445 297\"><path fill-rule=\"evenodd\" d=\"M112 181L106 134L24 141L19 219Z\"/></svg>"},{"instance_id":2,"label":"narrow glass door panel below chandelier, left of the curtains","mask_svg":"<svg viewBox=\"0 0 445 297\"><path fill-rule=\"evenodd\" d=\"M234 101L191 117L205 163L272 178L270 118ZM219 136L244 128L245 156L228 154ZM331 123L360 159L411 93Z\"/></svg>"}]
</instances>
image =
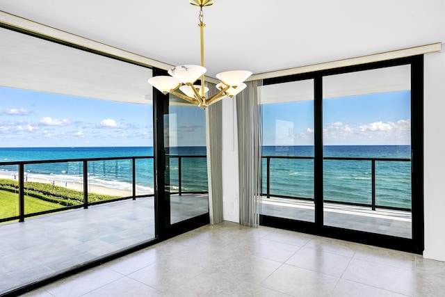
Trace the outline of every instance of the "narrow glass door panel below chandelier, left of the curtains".
<instances>
[{"instance_id":1,"label":"narrow glass door panel below chandelier, left of the curtains","mask_svg":"<svg viewBox=\"0 0 445 297\"><path fill-rule=\"evenodd\" d=\"M165 192L170 224L209 213L205 111L169 96L164 115Z\"/></svg>"}]
</instances>

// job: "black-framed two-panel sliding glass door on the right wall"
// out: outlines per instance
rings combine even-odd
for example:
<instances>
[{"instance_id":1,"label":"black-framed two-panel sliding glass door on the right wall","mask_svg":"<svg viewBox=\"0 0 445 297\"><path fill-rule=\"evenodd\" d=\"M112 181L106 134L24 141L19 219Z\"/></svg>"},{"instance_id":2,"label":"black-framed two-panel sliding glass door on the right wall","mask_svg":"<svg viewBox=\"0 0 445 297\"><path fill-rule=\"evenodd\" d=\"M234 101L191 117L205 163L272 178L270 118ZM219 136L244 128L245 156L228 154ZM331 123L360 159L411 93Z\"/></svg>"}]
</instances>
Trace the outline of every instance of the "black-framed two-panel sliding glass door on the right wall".
<instances>
[{"instance_id":1,"label":"black-framed two-panel sliding glass door on the right wall","mask_svg":"<svg viewBox=\"0 0 445 297\"><path fill-rule=\"evenodd\" d=\"M423 250L423 56L266 79L261 224Z\"/></svg>"}]
</instances>

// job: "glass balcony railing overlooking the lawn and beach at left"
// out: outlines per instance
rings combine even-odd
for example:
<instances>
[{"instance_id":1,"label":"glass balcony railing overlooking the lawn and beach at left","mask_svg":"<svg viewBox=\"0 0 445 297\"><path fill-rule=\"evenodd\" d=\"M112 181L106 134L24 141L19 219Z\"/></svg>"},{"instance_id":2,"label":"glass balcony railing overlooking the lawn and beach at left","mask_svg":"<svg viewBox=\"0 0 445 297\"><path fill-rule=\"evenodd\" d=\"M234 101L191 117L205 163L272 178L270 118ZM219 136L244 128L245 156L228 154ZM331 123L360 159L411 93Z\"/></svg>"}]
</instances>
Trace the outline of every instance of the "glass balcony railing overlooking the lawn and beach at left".
<instances>
[{"instance_id":1,"label":"glass balcony railing overlooking the lawn and beach at left","mask_svg":"<svg viewBox=\"0 0 445 297\"><path fill-rule=\"evenodd\" d=\"M0 223L154 195L153 156L0 163Z\"/></svg>"}]
</instances>

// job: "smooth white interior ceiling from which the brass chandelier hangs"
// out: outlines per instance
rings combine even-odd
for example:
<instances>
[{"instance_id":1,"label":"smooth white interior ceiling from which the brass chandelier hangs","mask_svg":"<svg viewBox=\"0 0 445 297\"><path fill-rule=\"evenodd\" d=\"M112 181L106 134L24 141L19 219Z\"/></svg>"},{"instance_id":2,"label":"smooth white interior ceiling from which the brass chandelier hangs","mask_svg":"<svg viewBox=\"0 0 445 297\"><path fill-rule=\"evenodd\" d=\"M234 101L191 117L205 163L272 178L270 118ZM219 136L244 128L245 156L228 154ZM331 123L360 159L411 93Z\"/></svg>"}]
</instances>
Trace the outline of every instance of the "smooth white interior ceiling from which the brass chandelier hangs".
<instances>
[{"instance_id":1,"label":"smooth white interior ceiling from which the brass chandelier hangs","mask_svg":"<svg viewBox=\"0 0 445 297\"><path fill-rule=\"evenodd\" d=\"M199 8L188 0L0 0L0 9L172 65L200 63ZM207 74L443 42L444 15L444 0L215 0L204 8Z\"/></svg>"}]
</instances>

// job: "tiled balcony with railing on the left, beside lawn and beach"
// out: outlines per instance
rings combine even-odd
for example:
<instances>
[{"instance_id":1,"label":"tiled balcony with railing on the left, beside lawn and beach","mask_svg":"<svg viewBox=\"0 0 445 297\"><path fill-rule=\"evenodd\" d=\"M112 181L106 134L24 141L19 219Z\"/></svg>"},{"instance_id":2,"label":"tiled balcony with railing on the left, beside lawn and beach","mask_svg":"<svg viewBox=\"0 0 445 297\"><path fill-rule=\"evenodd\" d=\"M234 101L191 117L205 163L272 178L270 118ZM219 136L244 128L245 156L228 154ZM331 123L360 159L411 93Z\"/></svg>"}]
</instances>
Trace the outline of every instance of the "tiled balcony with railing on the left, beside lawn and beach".
<instances>
[{"instance_id":1,"label":"tiled balcony with railing on the left, beside lawn and beach","mask_svg":"<svg viewBox=\"0 0 445 297\"><path fill-rule=\"evenodd\" d=\"M207 214L208 194L184 178L188 160L205 156L169 158L180 164L170 223ZM49 166L63 174L43 175ZM1 163L0 295L152 241L152 168L152 156Z\"/></svg>"}]
</instances>

